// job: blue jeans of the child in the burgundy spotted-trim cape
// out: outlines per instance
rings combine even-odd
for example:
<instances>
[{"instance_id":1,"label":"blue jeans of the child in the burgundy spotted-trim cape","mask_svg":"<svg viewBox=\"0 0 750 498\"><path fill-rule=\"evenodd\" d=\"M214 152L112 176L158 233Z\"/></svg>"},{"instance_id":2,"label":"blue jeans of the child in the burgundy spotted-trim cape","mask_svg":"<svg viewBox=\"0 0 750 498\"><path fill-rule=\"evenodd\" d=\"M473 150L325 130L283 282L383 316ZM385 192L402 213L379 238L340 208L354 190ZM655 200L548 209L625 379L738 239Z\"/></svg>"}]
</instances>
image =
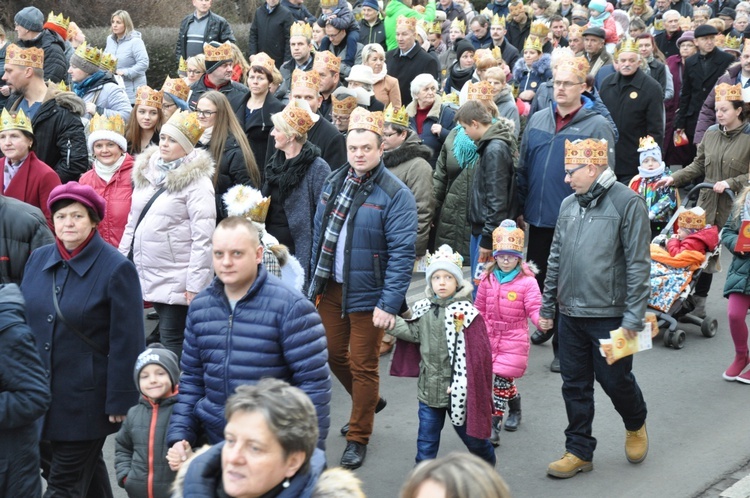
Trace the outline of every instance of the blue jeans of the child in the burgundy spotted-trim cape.
<instances>
[{"instance_id":1,"label":"blue jeans of the child in the burgundy spotted-trim cape","mask_svg":"<svg viewBox=\"0 0 750 498\"><path fill-rule=\"evenodd\" d=\"M419 402L419 432L417 433L417 463L437 457L440 449L440 432L445 423L447 408L431 408ZM453 424L451 424L453 425ZM471 453L495 466L495 449L489 439L477 439L466 434L466 424L453 426Z\"/></svg>"}]
</instances>

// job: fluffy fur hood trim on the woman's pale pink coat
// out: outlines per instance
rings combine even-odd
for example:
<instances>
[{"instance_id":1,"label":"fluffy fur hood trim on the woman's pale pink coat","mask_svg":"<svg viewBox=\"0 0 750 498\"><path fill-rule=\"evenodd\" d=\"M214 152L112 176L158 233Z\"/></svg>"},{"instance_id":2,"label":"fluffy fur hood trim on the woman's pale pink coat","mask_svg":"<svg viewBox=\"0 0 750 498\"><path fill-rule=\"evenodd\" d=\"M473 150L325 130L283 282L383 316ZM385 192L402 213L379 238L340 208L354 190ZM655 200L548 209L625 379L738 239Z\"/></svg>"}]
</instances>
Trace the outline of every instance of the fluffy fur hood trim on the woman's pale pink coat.
<instances>
[{"instance_id":1,"label":"fluffy fur hood trim on the woman's pale pink coat","mask_svg":"<svg viewBox=\"0 0 750 498\"><path fill-rule=\"evenodd\" d=\"M135 188L144 188L153 184L147 175L151 166L158 160L158 154L159 146L151 145L136 158L135 166L133 166ZM195 149L186 156L185 162L180 167L167 173L164 185L168 192L179 192L199 178L211 179L213 175L214 160L207 151Z\"/></svg>"}]
</instances>

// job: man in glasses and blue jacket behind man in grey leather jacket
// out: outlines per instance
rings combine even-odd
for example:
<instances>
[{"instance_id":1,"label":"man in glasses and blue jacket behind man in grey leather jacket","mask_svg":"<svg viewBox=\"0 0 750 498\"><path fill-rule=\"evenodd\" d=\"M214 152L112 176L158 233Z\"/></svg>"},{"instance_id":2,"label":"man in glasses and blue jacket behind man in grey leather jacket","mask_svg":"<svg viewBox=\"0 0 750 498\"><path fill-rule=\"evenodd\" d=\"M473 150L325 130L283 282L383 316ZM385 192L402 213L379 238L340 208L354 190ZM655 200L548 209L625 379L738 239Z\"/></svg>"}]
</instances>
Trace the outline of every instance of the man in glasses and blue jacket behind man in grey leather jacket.
<instances>
[{"instance_id":1,"label":"man in glasses and blue jacket behind man in grey leather jacket","mask_svg":"<svg viewBox=\"0 0 750 498\"><path fill-rule=\"evenodd\" d=\"M523 220L529 225L527 259L539 268L537 282L543 289L547 275L547 258L554 234L560 204L570 194L565 184L565 140L603 138L614 144L614 133L607 119L594 108L585 95L589 65L583 57L567 56L553 68L553 102L535 112L526 125L521 142L517 170L518 196ZM615 164L614 147L609 147L609 164ZM523 226L519 223L519 226ZM554 336L556 327L535 332L531 340L542 344ZM555 358L550 365L560 371L557 338L553 341Z\"/></svg>"}]
</instances>

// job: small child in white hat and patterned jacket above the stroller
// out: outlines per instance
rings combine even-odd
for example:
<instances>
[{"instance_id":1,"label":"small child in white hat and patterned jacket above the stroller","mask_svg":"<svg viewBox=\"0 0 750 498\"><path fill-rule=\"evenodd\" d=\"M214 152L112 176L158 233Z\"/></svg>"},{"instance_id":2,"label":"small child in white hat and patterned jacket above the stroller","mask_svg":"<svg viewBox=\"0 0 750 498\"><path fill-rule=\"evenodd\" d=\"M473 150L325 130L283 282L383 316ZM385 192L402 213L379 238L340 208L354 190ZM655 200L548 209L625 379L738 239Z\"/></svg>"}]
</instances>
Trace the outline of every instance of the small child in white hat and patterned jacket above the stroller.
<instances>
[{"instance_id":1,"label":"small child in white hat and patterned jacket above the stroller","mask_svg":"<svg viewBox=\"0 0 750 498\"><path fill-rule=\"evenodd\" d=\"M677 190L674 187L657 187L657 182L671 175L661 160L661 148L650 135L641 138L641 165L638 174L630 181L630 188L646 199L648 218L651 220L651 238L662 231L677 207Z\"/></svg>"}]
</instances>

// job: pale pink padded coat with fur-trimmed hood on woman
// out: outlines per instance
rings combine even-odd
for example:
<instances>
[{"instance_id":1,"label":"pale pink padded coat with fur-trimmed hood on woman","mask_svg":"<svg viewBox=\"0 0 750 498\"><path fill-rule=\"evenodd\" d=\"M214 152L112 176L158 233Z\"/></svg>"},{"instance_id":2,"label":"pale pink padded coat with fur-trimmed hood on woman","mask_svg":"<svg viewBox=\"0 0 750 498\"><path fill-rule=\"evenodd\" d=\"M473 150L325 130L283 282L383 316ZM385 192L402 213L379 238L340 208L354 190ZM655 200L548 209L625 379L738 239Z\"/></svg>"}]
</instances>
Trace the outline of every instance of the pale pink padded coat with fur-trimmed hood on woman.
<instances>
[{"instance_id":1,"label":"pale pink padded coat with fur-trimmed hood on woman","mask_svg":"<svg viewBox=\"0 0 750 498\"><path fill-rule=\"evenodd\" d=\"M119 248L124 255L130 251L141 211L159 190L150 180L158 158L156 145L136 158L133 203ZM197 294L211 282L211 235L216 226L213 174L214 161L205 150L196 149L167 173L167 190L138 226L133 262L146 301L185 306L185 291Z\"/></svg>"}]
</instances>

